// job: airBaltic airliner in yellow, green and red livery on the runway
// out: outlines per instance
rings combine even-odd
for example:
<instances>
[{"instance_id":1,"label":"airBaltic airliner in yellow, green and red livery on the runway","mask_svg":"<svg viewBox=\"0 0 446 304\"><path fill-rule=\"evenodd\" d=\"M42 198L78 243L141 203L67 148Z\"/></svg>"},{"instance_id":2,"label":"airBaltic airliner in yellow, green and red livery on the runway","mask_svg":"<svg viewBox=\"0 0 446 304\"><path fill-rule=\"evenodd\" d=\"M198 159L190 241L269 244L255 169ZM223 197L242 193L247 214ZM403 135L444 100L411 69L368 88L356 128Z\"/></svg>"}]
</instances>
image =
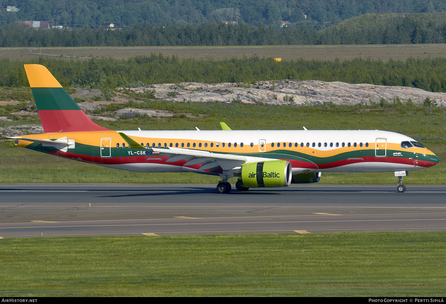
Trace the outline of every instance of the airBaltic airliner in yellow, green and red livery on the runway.
<instances>
[{"instance_id":1,"label":"airBaltic airliner in yellow, green and red livery on the runway","mask_svg":"<svg viewBox=\"0 0 446 304\"><path fill-rule=\"evenodd\" d=\"M25 64L44 134L10 137L16 145L64 158L136 172L193 172L235 187L317 183L322 172L395 172L432 167L439 158L411 137L380 130L115 131L95 124L60 83L38 64Z\"/></svg>"}]
</instances>

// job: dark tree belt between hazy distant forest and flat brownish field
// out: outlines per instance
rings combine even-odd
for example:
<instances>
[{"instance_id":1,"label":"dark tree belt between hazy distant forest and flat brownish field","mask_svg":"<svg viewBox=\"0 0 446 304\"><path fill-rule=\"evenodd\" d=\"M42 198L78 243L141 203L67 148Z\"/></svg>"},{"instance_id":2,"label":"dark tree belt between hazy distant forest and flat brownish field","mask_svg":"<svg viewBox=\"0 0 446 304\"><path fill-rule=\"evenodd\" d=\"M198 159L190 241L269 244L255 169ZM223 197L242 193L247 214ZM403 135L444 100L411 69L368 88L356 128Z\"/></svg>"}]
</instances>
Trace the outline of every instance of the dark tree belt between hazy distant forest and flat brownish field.
<instances>
[{"instance_id":1,"label":"dark tree belt between hazy distant forest and flat brownish field","mask_svg":"<svg viewBox=\"0 0 446 304\"><path fill-rule=\"evenodd\" d=\"M368 14L317 31L309 27L226 25L210 21L198 26L153 27L148 23L128 29L33 29L17 23L0 25L1 47L51 46L261 46L419 44L446 42L446 13Z\"/></svg>"}]
</instances>

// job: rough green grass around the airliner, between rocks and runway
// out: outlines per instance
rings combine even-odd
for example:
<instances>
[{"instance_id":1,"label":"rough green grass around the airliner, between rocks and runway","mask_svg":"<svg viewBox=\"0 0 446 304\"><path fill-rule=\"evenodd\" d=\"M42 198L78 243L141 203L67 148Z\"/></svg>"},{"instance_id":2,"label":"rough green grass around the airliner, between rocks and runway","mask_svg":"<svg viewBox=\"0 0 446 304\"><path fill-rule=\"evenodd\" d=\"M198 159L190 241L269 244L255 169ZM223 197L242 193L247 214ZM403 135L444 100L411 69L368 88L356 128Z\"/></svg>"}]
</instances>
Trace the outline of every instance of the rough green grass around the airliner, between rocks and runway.
<instances>
[{"instance_id":1,"label":"rough green grass around the airliner, between rocks and runway","mask_svg":"<svg viewBox=\"0 0 446 304\"><path fill-rule=\"evenodd\" d=\"M124 105L121 105L124 107ZM138 105L136 105L138 106ZM407 184L446 183L446 116L435 108L401 111L395 108L288 107L247 104L169 103L151 101L150 108L176 113L192 113L190 118L145 118L128 121L96 121L109 129L191 130L220 129L225 121L232 129L381 129L403 133L427 146L440 158L434 167L410 172ZM429 114L426 114L429 113ZM0 127L20 125L21 121L1 121ZM29 121L28 123L38 123ZM0 144L0 183L217 183L219 177L194 173L145 173L121 171L58 158L14 146ZM393 173L324 173L320 183L396 183ZM235 183L235 179L230 182Z\"/></svg>"}]
</instances>

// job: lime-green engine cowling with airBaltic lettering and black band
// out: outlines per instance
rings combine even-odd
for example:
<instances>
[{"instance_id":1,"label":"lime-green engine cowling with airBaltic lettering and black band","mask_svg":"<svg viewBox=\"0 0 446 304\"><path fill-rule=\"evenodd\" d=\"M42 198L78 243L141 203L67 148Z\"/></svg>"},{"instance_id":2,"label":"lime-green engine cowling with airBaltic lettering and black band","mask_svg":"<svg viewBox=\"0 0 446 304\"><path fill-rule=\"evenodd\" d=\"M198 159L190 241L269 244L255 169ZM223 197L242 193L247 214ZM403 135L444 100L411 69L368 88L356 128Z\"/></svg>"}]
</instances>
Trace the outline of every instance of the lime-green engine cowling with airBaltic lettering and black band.
<instances>
[{"instance_id":1,"label":"lime-green engine cowling with airBaltic lettering and black band","mask_svg":"<svg viewBox=\"0 0 446 304\"><path fill-rule=\"evenodd\" d=\"M248 162L242 166L244 187L288 187L292 178L291 163L284 160Z\"/></svg>"}]
</instances>

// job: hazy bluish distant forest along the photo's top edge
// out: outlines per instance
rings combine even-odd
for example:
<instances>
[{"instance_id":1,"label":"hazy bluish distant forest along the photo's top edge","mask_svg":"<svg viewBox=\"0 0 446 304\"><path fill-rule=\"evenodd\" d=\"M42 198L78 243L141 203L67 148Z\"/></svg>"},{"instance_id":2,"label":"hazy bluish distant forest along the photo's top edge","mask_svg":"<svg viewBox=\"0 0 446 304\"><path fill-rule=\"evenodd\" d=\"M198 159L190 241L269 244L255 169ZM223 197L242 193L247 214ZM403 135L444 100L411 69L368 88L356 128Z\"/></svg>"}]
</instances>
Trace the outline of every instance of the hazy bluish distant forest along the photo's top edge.
<instances>
[{"instance_id":1,"label":"hazy bluish distant forest along the photo's top edge","mask_svg":"<svg viewBox=\"0 0 446 304\"><path fill-rule=\"evenodd\" d=\"M104 22L133 26L200 25L202 22L244 21L257 25L284 20L298 25L336 24L370 13L446 12L446 0L0 0L1 23L50 21L72 28Z\"/></svg>"}]
</instances>

